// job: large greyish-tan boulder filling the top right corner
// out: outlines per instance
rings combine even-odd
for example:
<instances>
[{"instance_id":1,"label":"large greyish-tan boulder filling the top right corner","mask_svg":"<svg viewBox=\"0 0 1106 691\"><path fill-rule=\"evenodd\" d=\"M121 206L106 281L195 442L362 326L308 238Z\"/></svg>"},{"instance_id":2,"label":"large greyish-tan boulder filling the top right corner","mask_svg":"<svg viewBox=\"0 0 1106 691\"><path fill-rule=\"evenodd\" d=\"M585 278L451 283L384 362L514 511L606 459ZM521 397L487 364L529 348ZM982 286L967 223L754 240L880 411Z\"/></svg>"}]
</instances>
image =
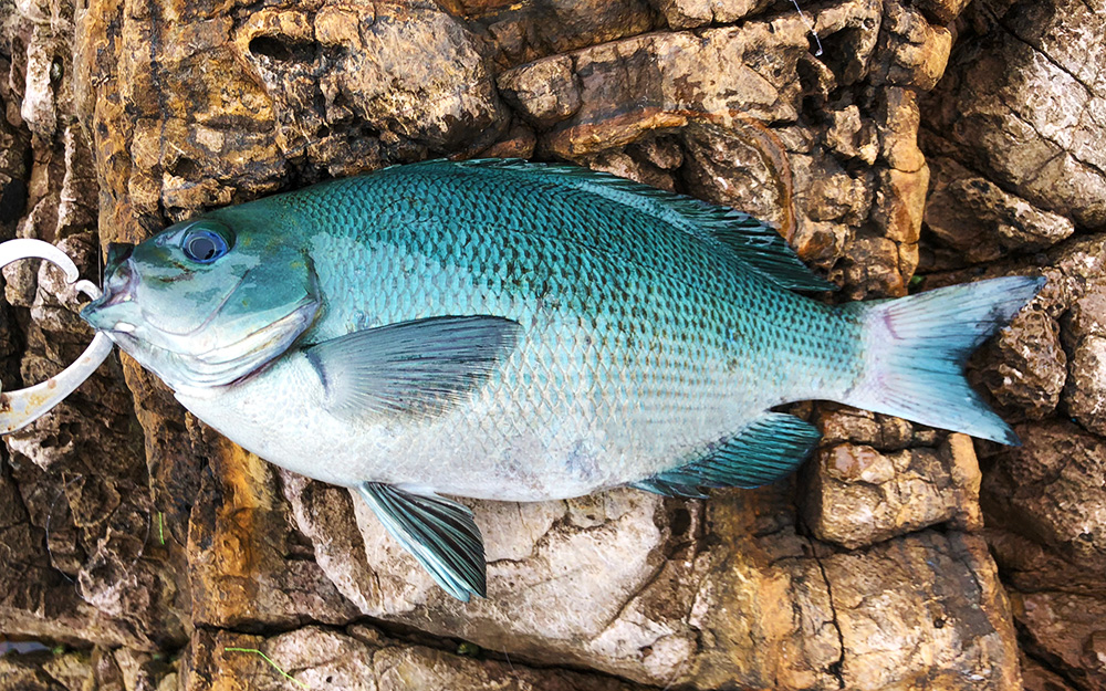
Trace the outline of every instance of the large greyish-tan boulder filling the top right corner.
<instances>
[{"instance_id":1,"label":"large greyish-tan boulder filling the top right corner","mask_svg":"<svg viewBox=\"0 0 1106 691\"><path fill-rule=\"evenodd\" d=\"M995 3L985 38L957 48L928 107L930 126L956 144L962 163L1092 228L1106 223L1099 4Z\"/></svg>"}]
</instances>

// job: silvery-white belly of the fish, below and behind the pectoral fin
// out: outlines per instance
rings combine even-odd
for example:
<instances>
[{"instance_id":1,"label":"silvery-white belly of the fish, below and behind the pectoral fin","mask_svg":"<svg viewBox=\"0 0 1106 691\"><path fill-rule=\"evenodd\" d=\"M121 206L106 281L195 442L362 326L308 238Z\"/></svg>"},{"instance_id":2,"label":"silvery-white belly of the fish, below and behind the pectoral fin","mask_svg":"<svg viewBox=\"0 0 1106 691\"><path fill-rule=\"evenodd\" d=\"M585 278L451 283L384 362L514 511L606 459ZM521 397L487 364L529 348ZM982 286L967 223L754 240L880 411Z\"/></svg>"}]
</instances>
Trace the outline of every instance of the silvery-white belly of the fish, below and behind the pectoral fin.
<instances>
[{"instance_id":1,"label":"silvery-white belly of the fish, below and behind the pectoral fin","mask_svg":"<svg viewBox=\"0 0 1106 691\"><path fill-rule=\"evenodd\" d=\"M805 375L810 365L786 348L739 348L743 356L727 359L651 341L632 353L625 335L530 316L491 379L435 415L333 413L301 352L240 384L177 397L246 449L317 480L540 501L696 460L789 391L808 397L796 378L822 376Z\"/></svg>"}]
</instances>

